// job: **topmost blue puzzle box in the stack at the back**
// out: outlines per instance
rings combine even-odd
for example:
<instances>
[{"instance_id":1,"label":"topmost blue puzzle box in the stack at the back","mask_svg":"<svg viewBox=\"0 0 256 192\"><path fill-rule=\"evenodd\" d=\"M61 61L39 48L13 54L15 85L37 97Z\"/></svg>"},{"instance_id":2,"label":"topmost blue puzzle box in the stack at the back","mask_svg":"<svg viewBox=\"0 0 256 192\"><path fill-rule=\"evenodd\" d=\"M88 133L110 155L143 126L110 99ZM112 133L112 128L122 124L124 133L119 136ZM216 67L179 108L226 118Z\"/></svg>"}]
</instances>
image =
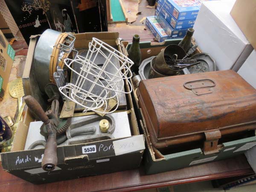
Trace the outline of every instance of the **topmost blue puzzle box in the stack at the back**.
<instances>
[{"instance_id":1,"label":"topmost blue puzzle box in the stack at the back","mask_svg":"<svg viewBox=\"0 0 256 192\"><path fill-rule=\"evenodd\" d=\"M179 21L195 19L203 1L210 0L159 0L158 3Z\"/></svg>"}]
</instances>

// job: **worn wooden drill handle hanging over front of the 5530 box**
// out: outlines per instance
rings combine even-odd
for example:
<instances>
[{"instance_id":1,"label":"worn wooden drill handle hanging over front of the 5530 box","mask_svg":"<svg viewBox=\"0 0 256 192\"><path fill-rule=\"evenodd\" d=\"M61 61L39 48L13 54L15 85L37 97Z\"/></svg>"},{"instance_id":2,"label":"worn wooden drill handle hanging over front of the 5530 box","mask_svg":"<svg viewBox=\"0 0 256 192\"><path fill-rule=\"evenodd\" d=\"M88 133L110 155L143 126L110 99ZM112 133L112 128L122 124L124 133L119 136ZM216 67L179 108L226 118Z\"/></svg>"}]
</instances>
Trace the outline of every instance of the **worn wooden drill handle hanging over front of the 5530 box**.
<instances>
[{"instance_id":1,"label":"worn wooden drill handle hanging over front of the 5530 box","mask_svg":"<svg viewBox=\"0 0 256 192\"><path fill-rule=\"evenodd\" d=\"M52 128L51 124L47 125L47 131L48 140L45 146L44 157L41 165L44 171L52 171L58 163L56 131Z\"/></svg>"}]
</instances>

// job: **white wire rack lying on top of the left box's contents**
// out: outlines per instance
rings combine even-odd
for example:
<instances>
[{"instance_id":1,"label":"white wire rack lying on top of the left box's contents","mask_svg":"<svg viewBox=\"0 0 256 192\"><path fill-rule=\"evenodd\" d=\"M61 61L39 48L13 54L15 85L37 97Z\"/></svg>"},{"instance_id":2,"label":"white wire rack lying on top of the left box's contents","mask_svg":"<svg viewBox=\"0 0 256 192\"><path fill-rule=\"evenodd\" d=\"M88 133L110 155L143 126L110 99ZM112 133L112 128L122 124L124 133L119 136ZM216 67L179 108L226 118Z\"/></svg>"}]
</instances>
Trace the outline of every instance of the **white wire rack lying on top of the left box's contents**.
<instances>
[{"instance_id":1,"label":"white wire rack lying on top of the left box's contents","mask_svg":"<svg viewBox=\"0 0 256 192\"><path fill-rule=\"evenodd\" d=\"M97 57L103 57L105 61L96 64ZM113 58L119 61L119 68L113 63ZM75 84L68 83L59 87L59 90L67 99L84 107L84 113L88 110L112 113L119 105L117 93L131 93L131 82L125 79L132 77L133 61L97 38L93 38L89 43L86 57L77 55L75 59L66 58L64 62L73 73L78 75L78 79ZM79 65L80 71L73 70L72 65ZM111 71L107 70L110 67ZM119 82L122 86L117 86ZM125 82L129 85L127 92L124 89ZM84 84L87 84L86 89L82 88ZM117 101L117 105L111 110L108 108L110 99Z\"/></svg>"}]
</instances>

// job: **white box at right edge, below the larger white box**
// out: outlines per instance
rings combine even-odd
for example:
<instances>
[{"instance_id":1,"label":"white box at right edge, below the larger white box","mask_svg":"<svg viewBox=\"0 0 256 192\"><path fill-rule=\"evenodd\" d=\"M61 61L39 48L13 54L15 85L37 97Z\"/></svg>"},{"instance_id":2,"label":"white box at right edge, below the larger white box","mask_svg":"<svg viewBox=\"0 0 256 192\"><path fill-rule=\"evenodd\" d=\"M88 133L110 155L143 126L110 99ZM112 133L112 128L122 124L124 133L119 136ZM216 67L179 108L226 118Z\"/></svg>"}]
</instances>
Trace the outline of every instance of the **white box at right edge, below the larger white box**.
<instances>
[{"instance_id":1,"label":"white box at right edge, below the larger white box","mask_svg":"<svg viewBox=\"0 0 256 192\"><path fill-rule=\"evenodd\" d=\"M256 50L249 55L244 64L238 70L238 74L256 89Z\"/></svg>"}]
</instances>

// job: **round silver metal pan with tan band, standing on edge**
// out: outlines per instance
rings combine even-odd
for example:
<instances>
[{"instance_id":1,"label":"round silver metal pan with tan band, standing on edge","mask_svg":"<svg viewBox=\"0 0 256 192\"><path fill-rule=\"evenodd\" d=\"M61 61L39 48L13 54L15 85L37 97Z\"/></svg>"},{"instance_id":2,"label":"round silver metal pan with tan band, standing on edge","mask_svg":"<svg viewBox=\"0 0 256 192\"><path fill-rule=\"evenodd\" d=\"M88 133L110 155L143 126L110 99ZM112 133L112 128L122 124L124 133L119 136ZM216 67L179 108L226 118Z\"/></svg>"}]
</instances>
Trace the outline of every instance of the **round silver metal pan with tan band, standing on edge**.
<instances>
[{"instance_id":1,"label":"round silver metal pan with tan band, standing on edge","mask_svg":"<svg viewBox=\"0 0 256 192\"><path fill-rule=\"evenodd\" d=\"M41 35L35 47L35 76L39 88L44 93L46 84L54 82L53 73L57 66L63 68L63 59L67 58L74 47L75 37L47 29Z\"/></svg>"}]
</instances>

